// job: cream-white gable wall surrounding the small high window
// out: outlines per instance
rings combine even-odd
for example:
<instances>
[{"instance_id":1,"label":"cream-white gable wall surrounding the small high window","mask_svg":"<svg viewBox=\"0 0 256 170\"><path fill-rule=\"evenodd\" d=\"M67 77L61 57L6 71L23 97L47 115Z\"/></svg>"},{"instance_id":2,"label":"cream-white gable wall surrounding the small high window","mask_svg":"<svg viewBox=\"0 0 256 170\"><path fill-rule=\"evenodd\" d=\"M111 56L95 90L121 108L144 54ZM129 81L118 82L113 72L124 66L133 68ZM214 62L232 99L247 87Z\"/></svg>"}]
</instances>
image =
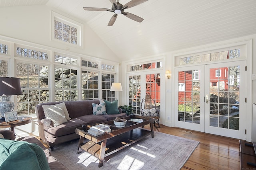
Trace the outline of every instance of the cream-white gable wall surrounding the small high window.
<instances>
[{"instance_id":1,"label":"cream-white gable wall surrounding the small high window","mask_svg":"<svg viewBox=\"0 0 256 170\"><path fill-rule=\"evenodd\" d=\"M66 14L62 15L65 16ZM0 35L57 49L68 49L68 51L91 57L120 61L113 51L108 48L86 23L76 20L71 16L66 17L84 24L84 46L77 48L73 47L74 45L72 44L66 45L51 41L51 9L47 6L5 7L0 9L0 16Z\"/></svg>"}]
</instances>

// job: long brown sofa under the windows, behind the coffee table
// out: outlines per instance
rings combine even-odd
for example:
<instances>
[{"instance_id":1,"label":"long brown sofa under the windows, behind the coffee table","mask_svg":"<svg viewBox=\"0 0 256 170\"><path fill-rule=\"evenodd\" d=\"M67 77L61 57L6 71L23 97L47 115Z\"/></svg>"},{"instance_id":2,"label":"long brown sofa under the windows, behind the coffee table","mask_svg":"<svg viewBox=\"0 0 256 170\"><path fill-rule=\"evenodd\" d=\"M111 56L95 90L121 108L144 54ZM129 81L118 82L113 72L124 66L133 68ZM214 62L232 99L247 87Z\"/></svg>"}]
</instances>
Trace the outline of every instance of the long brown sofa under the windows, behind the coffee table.
<instances>
[{"instance_id":1,"label":"long brown sofa under the windows, behind the coffee table","mask_svg":"<svg viewBox=\"0 0 256 170\"><path fill-rule=\"evenodd\" d=\"M122 113L121 108L118 108L119 114L93 115L92 103L100 104L99 100L66 101L65 105L71 119L66 123L53 127L51 120L46 119L42 105L60 103L62 102L43 103L38 104L35 108L40 139L49 145L51 151L53 151L54 145L79 138L79 135L75 133L77 127L102 123L113 120L116 117L126 117L126 113Z\"/></svg>"}]
</instances>

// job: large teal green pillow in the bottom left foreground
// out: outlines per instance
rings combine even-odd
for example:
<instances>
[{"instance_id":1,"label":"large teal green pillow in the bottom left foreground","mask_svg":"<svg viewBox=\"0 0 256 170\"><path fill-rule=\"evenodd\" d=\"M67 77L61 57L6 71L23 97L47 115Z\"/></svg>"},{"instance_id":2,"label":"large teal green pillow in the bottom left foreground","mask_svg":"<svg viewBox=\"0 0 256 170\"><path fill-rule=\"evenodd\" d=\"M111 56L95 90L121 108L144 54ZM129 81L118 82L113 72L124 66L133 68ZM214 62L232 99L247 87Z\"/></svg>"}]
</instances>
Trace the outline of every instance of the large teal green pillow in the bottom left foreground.
<instances>
[{"instance_id":1,"label":"large teal green pillow in the bottom left foreground","mask_svg":"<svg viewBox=\"0 0 256 170\"><path fill-rule=\"evenodd\" d=\"M50 170L44 150L35 143L0 139L0 170Z\"/></svg>"}]
</instances>

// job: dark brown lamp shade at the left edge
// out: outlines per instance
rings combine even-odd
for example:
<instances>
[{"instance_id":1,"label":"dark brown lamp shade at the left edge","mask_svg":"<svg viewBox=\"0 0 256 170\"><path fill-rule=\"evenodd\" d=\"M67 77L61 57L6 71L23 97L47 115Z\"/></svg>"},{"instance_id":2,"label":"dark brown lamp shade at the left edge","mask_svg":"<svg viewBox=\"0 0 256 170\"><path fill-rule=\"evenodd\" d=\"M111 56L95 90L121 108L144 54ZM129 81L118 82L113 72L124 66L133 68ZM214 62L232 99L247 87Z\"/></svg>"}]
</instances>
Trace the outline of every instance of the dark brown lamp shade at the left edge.
<instances>
[{"instance_id":1,"label":"dark brown lamp shade at the left edge","mask_svg":"<svg viewBox=\"0 0 256 170\"><path fill-rule=\"evenodd\" d=\"M20 78L0 77L0 96L12 96L22 94Z\"/></svg>"}]
</instances>

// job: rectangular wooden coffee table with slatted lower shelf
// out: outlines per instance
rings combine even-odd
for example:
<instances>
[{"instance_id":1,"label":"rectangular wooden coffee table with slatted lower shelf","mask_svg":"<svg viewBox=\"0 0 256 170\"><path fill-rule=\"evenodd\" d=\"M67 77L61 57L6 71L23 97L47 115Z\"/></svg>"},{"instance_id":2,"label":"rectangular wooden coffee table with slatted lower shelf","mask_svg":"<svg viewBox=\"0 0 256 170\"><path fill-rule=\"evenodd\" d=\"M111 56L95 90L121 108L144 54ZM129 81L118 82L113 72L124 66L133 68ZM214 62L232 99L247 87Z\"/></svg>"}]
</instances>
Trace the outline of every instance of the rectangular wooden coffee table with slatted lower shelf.
<instances>
[{"instance_id":1,"label":"rectangular wooden coffee table with slatted lower shelf","mask_svg":"<svg viewBox=\"0 0 256 170\"><path fill-rule=\"evenodd\" d=\"M91 126L98 124L88 125L86 128L76 128L76 133L80 135L78 153L81 153L83 149L96 156L100 160L99 167L101 167L103 166L104 158L106 156L130 146L148 135L151 135L151 137L154 138L154 118L151 119L142 116L133 117L136 119L142 118L143 122L140 123L130 121L130 117L125 118L127 119L127 123L125 127L122 128L116 127L113 120L98 123L110 125L111 129L111 132L99 136L87 133L87 130L90 129ZM150 124L150 130L140 128L147 124ZM88 139L89 141L84 143L84 139Z\"/></svg>"}]
</instances>

